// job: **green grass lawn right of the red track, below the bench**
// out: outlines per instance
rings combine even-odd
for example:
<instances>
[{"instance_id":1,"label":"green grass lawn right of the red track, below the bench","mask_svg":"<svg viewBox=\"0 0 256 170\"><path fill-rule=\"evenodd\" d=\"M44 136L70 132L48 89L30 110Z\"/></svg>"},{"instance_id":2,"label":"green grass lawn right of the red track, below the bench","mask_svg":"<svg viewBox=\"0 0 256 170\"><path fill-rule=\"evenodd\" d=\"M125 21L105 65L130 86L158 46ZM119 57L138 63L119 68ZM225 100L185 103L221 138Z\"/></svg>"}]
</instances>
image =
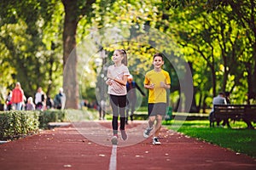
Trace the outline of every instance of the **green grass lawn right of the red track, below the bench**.
<instances>
[{"instance_id":1,"label":"green grass lawn right of the red track, below the bench","mask_svg":"<svg viewBox=\"0 0 256 170\"><path fill-rule=\"evenodd\" d=\"M163 122L169 128L172 128L174 124L178 125L178 123L178 121ZM182 125L179 124L181 127L176 129L177 132L256 157L256 130L246 129L247 126L244 122L231 122L232 128L209 127L207 120L180 123Z\"/></svg>"}]
</instances>

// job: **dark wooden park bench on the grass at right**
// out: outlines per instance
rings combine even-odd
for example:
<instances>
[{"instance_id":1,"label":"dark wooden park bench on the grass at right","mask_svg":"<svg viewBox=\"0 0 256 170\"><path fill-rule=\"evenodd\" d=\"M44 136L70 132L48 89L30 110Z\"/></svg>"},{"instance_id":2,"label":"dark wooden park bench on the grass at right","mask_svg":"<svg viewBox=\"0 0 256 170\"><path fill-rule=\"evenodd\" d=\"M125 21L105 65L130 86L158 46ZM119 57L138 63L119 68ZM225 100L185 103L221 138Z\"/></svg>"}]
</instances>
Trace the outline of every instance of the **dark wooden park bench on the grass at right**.
<instances>
[{"instance_id":1,"label":"dark wooden park bench on the grass at right","mask_svg":"<svg viewBox=\"0 0 256 170\"><path fill-rule=\"evenodd\" d=\"M214 105L215 120L242 120L248 128L253 128L251 122L256 122L256 105Z\"/></svg>"}]
</instances>

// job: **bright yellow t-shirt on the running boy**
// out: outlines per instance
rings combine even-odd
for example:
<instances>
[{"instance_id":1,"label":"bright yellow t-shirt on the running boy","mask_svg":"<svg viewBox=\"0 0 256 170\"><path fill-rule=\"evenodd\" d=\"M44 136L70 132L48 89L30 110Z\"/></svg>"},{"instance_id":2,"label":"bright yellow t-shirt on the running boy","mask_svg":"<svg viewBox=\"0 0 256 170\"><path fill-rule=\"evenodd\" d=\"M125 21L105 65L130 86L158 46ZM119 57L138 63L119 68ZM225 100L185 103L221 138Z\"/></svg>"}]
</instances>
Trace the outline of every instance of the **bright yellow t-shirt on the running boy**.
<instances>
[{"instance_id":1,"label":"bright yellow t-shirt on the running boy","mask_svg":"<svg viewBox=\"0 0 256 170\"><path fill-rule=\"evenodd\" d=\"M148 103L166 103L166 88L161 88L160 82L171 84L171 78L167 71L161 70L157 72L152 70L146 73L144 84L154 84L153 89L148 89Z\"/></svg>"}]
</instances>

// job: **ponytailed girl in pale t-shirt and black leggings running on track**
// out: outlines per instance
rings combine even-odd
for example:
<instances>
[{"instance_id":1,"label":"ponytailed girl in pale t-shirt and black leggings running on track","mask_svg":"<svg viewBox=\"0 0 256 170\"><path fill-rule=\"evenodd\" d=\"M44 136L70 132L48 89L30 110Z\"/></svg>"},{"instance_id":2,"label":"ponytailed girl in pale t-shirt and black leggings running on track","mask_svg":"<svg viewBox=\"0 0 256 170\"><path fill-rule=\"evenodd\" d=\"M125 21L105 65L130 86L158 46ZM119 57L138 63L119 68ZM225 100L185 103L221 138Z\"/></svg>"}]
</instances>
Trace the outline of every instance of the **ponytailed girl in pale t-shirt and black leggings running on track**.
<instances>
[{"instance_id":1,"label":"ponytailed girl in pale t-shirt and black leggings running on track","mask_svg":"<svg viewBox=\"0 0 256 170\"><path fill-rule=\"evenodd\" d=\"M120 132L123 140L127 139L125 133L125 105L126 105L126 82L130 72L127 68L127 54L124 49L116 49L113 52L113 65L108 67L107 84L108 94L110 97L110 105L113 110L112 128L113 137L112 144L118 144L118 119L120 115Z\"/></svg>"}]
</instances>

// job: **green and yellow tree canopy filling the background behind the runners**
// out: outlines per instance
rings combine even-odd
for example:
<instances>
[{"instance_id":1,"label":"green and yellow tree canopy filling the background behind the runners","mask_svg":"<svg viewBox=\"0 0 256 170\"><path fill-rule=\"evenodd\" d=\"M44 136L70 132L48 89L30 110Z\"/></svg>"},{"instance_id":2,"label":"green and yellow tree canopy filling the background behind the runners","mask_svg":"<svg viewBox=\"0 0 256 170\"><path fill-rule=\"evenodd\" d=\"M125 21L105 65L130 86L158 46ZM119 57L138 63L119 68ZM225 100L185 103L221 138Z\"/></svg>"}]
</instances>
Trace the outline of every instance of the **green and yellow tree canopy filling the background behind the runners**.
<instances>
[{"instance_id":1,"label":"green and yellow tree canopy filling the background behind the runners","mask_svg":"<svg viewBox=\"0 0 256 170\"><path fill-rule=\"evenodd\" d=\"M114 48L128 51L131 72L140 84L143 72L151 68L154 53L172 54L174 59L165 65L172 77L172 105L183 96L179 93L183 80L175 71L182 56L193 77L191 111L211 105L219 91L229 91L233 103L255 102L256 22L252 0L1 0L0 4L2 102L17 81L27 97L34 96L38 87L53 97L63 86L67 108L78 108L79 98L96 100L97 76L99 72L105 74L104 65L110 62ZM112 30L108 32L108 28ZM160 38L140 37L147 28L160 32ZM107 33L101 35L100 43L90 37L97 31ZM132 41L104 43L111 35ZM90 54L92 60L83 61L77 47L89 37L92 41L87 42L84 54L93 51L90 43L95 44L97 53ZM166 37L172 41L166 41ZM166 48L166 42L175 45ZM69 59L71 54L73 58ZM83 62L88 68L81 65Z\"/></svg>"}]
</instances>

